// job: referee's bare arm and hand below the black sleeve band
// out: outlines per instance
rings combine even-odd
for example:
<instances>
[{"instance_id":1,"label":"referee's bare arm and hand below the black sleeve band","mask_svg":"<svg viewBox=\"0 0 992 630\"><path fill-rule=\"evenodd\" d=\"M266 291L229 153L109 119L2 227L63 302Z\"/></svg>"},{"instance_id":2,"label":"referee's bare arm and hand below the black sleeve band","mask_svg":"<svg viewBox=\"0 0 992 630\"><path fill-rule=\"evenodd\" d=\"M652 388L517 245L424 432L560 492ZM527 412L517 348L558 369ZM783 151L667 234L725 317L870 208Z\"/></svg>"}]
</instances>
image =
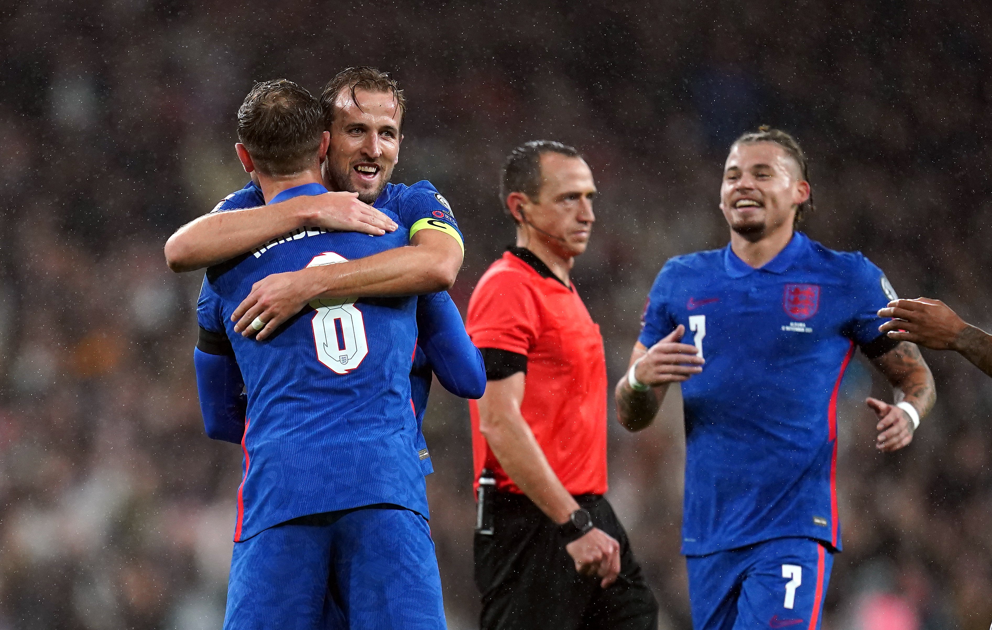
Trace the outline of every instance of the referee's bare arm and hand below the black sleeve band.
<instances>
[{"instance_id":1,"label":"referee's bare arm and hand below the black sleeve band","mask_svg":"<svg viewBox=\"0 0 992 630\"><path fill-rule=\"evenodd\" d=\"M542 512L561 525L579 505L561 484L520 413L525 381L526 374L517 372L488 382L478 403L479 431L510 478ZM612 584L620 572L620 546L598 528L568 543L565 550L575 561L575 570L602 577L603 588Z\"/></svg>"}]
</instances>

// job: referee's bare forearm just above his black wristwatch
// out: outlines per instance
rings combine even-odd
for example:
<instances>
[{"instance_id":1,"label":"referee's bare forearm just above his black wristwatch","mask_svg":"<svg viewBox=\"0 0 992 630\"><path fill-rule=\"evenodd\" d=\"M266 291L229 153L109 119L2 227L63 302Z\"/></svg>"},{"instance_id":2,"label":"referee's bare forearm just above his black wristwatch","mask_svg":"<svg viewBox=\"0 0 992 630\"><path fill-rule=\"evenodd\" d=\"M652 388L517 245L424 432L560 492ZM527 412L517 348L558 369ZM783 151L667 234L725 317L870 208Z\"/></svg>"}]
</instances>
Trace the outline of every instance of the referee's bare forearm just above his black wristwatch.
<instances>
[{"instance_id":1,"label":"referee's bare forearm just above his black wristwatch","mask_svg":"<svg viewBox=\"0 0 992 630\"><path fill-rule=\"evenodd\" d=\"M550 519L564 523L579 506L558 480L527 422L519 412L513 416L506 411L492 418L483 435L517 487Z\"/></svg>"}]
</instances>

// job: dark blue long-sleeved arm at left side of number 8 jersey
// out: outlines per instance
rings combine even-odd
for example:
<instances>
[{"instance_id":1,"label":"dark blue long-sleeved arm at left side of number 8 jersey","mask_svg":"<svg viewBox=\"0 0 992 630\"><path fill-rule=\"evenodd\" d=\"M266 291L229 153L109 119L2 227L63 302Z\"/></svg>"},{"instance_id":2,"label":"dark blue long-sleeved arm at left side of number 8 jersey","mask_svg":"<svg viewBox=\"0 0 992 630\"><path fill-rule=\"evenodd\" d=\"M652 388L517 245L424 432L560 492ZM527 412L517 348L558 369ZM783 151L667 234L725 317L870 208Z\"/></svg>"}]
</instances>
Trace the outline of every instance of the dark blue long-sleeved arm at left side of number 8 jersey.
<instances>
[{"instance_id":1,"label":"dark blue long-sleeved arm at left side of number 8 jersey","mask_svg":"<svg viewBox=\"0 0 992 630\"><path fill-rule=\"evenodd\" d=\"M240 443L248 399L241 369L226 336L200 328L193 363L206 435L213 440Z\"/></svg>"}]
</instances>

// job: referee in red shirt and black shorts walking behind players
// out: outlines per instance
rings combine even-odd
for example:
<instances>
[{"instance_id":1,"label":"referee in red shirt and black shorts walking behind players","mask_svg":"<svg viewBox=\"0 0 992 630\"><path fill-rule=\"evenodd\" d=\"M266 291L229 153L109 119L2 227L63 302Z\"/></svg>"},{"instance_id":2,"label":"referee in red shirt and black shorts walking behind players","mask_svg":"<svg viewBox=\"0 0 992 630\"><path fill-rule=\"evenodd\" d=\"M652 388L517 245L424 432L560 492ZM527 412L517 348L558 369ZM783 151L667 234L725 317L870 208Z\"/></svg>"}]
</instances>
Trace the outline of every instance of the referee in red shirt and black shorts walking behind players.
<instances>
[{"instance_id":1,"label":"referee in red shirt and black shorts walking behind players","mask_svg":"<svg viewBox=\"0 0 992 630\"><path fill-rule=\"evenodd\" d=\"M658 604L606 492L603 341L568 274L585 251L596 187L558 142L529 142L503 168L517 224L479 280L466 328L486 393L469 401L482 630L647 629ZM485 493L489 492L489 497Z\"/></svg>"}]
</instances>

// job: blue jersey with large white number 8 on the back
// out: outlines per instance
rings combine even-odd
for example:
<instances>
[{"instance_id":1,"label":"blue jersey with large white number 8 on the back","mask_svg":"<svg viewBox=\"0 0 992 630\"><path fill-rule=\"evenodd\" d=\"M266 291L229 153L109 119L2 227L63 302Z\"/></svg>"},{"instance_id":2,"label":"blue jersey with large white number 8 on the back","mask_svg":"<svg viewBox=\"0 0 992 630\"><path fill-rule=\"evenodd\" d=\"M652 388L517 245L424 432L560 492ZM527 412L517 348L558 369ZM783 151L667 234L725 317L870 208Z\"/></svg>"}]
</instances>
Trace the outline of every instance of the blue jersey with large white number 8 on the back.
<instances>
[{"instance_id":1,"label":"blue jersey with large white number 8 on the back","mask_svg":"<svg viewBox=\"0 0 992 630\"><path fill-rule=\"evenodd\" d=\"M216 209L259 205L253 188L235 192ZM434 207L441 205L431 190L427 183L391 185L375 205L409 225L411 219L396 210L433 212L429 202L416 202L430 196ZM273 202L323 191L297 187ZM230 320L252 284L270 274L408 243L404 229L369 236L304 228L207 270L199 325L226 333L248 392L236 541L299 516L376 503L428 516L410 386L416 298L315 300L261 342L235 333Z\"/></svg>"}]
</instances>

